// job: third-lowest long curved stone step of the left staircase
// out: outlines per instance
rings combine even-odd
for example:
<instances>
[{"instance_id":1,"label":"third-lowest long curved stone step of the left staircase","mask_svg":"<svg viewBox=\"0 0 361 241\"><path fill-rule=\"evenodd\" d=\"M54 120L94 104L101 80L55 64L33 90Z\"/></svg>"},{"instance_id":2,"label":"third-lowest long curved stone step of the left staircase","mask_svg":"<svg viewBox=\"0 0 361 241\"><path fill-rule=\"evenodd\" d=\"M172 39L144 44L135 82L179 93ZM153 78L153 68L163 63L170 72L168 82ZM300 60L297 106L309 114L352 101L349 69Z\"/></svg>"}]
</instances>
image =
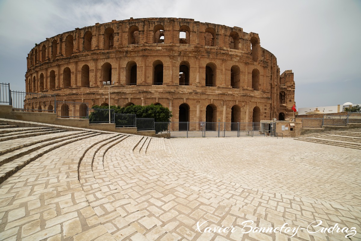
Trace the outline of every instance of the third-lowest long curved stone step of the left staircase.
<instances>
[{"instance_id":1,"label":"third-lowest long curved stone step of the left staircase","mask_svg":"<svg viewBox=\"0 0 361 241\"><path fill-rule=\"evenodd\" d=\"M75 135L75 134L79 134L79 133L86 133L86 132L90 132L90 130L85 130L85 131L73 131L73 132L61 132L59 135L52 135L52 134L49 134L48 136L45 137L45 135L43 135L42 137L45 137L45 138L42 138L42 139L21 139L21 142L20 141L16 141L15 143L12 143L13 145L9 144L9 142L3 142L3 143L0 143L0 156L1 155L4 155L6 153L9 153L11 151L14 151L14 150L18 150L20 148L23 148L23 147L29 147L31 145L34 145L36 143L39 143L39 142L45 142L45 141L51 141L53 139L57 139L57 138L62 138L62 137L67 137L69 135ZM58 133L55 133L55 134L58 134ZM31 137L30 137L31 138Z\"/></svg>"}]
</instances>

